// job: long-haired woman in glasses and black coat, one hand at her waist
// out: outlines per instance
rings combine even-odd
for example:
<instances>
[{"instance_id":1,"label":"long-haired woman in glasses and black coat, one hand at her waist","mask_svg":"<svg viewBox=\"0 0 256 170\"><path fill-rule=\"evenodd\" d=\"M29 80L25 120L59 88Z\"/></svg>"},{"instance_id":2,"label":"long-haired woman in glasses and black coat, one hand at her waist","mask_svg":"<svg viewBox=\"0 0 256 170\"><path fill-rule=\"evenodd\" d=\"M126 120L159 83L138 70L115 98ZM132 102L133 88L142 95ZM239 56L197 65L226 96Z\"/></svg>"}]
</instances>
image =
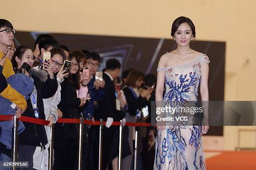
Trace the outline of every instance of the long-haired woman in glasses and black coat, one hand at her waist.
<instances>
[{"instance_id":1,"label":"long-haired woman in glasses and black coat, one hand at her waist","mask_svg":"<svg viewBox=\"0 0 256 170\"><path fill-rule=\"evenodd\" d=\"M85 103L85 98L77 97L80 87L79 60L70 54L72 66L69 76L61 83L61 101L58 108L63 118L78 118L78 109ZM77 169L78 125L73 123L57 123L54 130L54 169Z\"/></svg>"}]
</instances>

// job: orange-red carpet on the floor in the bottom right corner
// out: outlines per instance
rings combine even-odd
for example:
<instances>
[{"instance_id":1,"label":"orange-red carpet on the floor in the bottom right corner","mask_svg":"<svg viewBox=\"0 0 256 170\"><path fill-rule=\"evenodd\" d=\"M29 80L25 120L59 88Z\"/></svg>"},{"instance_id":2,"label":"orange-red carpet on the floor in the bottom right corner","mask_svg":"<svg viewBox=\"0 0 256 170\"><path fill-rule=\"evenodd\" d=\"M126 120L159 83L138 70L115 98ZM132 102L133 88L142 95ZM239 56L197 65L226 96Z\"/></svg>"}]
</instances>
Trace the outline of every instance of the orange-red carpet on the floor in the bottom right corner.
<instances>
[{"instance_id":1,"label":"orange-red carpet on the floor in the bottom right corner","mask_svg":"<svg viewBox=\"0 0 256 170\"><path fill-rule=\"evenodd\" d=\"M256 170L256 152L222 152L206 159L207 170Z\"/></svg>"}]
</instances>

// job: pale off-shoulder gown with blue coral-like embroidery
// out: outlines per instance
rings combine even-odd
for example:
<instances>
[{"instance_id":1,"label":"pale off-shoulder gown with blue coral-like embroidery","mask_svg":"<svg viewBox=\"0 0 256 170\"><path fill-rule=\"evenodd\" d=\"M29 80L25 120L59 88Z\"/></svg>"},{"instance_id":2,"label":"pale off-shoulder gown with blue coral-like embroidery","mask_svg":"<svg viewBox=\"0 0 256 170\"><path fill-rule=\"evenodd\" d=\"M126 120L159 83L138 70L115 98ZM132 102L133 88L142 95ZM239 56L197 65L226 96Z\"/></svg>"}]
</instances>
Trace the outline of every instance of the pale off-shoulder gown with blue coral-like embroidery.
<instances>
[{"instance_id":1,"label":"pale off-shoulder gown with blue coral-like embroidery","mask_svg":"<svg viewBox=\"0 0 256 170\"><path fill-rule=\"evenodd\" d=\"M201 66L209 62L207 55L201 54L182 65L158 68L165 71L163 107L166 102L197 101ZM158 130L154 170L206 170L201 130L192 123Z\"/></svg>"}]
</instances>

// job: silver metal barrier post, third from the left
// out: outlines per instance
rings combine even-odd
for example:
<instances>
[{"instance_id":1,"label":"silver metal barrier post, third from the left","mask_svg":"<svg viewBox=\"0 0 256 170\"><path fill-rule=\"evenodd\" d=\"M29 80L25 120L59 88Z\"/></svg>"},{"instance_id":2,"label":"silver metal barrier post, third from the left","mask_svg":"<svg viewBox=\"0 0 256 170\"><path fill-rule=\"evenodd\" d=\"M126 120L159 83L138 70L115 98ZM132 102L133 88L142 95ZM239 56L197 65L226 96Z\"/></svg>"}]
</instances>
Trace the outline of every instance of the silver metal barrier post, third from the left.
<instances>
[{"instance_id":1,"label":"silver metal barrier post, third from the left","mask_svg":"<svg viewBox=\"0 0 256 170\"><path fill-rule=\"evenodd\" d=\"M82 153L83 153L83 136L84 136L84 116L81 114L79 124L79 145L78 145L78 170L82 170Z\"/></svg>"}]
</instances>

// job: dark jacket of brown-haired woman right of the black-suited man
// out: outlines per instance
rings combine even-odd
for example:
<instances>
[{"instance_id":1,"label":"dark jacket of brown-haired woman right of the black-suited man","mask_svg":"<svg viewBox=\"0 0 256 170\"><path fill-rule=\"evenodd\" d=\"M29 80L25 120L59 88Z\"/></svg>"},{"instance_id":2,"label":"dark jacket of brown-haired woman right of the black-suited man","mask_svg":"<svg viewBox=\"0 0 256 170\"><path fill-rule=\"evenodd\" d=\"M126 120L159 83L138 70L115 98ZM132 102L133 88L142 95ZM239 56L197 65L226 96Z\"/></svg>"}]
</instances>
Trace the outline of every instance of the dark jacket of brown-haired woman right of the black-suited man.
<instances>
[{"instance_id":1,"label":"dark jacket of brown-haired woman right of the black-suited man","mask_svg":"<svg viewBox=\"0 0 256 170\"><path fill-rule=\"evenodd\" d=\"M140 110L141 108L146 107L146 105L148 104L147 100L142 98L141 95L136 98L135 95L133 95L131 89L127 86L123 88L123 92L125 94L127 104L129 106L128 112L130 116L135 116L137 109Z\"/></svg>"}]
</instances>

